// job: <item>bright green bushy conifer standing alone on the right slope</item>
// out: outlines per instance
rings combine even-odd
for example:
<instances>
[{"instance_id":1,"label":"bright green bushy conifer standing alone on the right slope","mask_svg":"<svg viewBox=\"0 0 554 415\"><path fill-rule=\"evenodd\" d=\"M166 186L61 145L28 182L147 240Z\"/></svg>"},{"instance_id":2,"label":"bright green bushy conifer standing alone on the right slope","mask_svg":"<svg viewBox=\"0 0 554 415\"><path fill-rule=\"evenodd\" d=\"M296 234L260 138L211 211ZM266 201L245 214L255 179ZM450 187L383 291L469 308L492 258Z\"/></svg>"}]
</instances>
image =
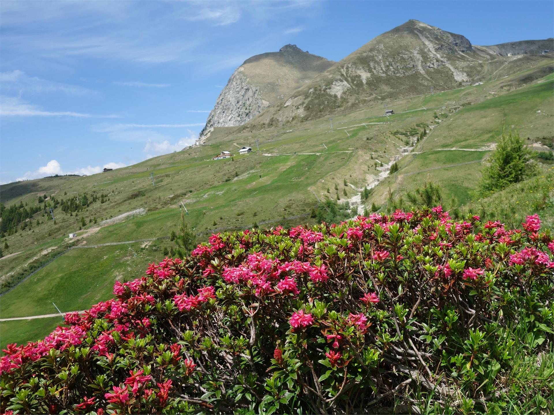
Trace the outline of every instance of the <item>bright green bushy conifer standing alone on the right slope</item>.
<instances>
[{"instance_id":1,"label":"bright green bushy conifer standing alone on the right slope","mask_svg":"<svg viewBox=\"0 0 554 415\"><path fill-rule=\"evenodd\" d=\"M507 135L502 132L489 157L489 164L483 169L483 178L479 182L481 195L502 190L537 174L531 155L519 132L510 131Z\"/></svg>"}]
</instances>

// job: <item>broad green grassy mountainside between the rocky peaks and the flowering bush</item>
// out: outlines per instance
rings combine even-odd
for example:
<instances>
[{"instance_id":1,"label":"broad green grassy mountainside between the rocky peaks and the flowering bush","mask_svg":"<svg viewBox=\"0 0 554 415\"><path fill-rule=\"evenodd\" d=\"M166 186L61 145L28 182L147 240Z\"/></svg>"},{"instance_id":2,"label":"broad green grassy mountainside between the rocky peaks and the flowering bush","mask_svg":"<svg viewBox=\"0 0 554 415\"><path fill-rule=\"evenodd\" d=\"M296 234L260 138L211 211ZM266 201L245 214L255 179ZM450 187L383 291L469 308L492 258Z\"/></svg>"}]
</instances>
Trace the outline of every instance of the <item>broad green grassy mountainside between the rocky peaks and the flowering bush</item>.
<instances>
[{"instance_id":1,"label":"broad green grassy mountainside between the rocky peaks and the flowering bush","mask_svg":"<svg viewBox=\"0 0 554 415\"><path fill-rule=\"evenodd\" d=\"M319 200L335 199L338 194L343 201L372 183L381 173L375 166L377 160L387 164L399 158L400 170L373 189L368 203L381 205L388 189L412 189L428 178L442 184L448 199L453 194L459 203L466 203L489 152L481 147L494 141L493 133L501 131L502 125L519 127L522 135L531 138L547 135L549 128L551 134L553 77L537 81L543 66L541 62L535 71L526 69L483 85L390 102L389 108L397 112L390 118L382 115L381 105L374 105L334 115L333 130L327 118L261 131L217 128L203 146L112 172L2 185L2 202L8 206L36 205L38 195L44 193L63 199L87 191L89 195L104 193L107 198L77 217L57 209L55 224L48 215L35 214L32 228L1 240L9 244L4 255L19 253L0 259L0 278L24 273L30 261L40 262L50 255L48 250L64 250L69 243L95 245L168 236L176 229L181 202L187 206L187 221L200 234L199 240L212 231L243 229L254 222L266 227L310 223L315 220L310 211ZM529 74L534 74L533 80L522 84ZM498 96L490 97L490 91ZM404 147L424 126L427 138L416 145L414 153L402 157L408 151ZM221 151L238 151L244 145L255 151L235 155L234 160L211 160ZM453 147L479 151L445 150ZM100 226L102 220L139 208L146 209L146 214ZM79 231L81 216L86 225ZM97 224L89 223L94 218ZM35 225L37 219L40 225ZM79 235L76 242L67 238L73 231ZM3 295L0 315L52 313L52 301L64 311L90 307L111 296L116 278L139 276L149 261L161 257L161 247L169 244L155 241L143 251L142 243L131 244L139 252L136 258L125 245L71 250ZM2 340L19 339L17 330L12 335L13 327L0 324Z\"/></svg>"}]
</instances>

